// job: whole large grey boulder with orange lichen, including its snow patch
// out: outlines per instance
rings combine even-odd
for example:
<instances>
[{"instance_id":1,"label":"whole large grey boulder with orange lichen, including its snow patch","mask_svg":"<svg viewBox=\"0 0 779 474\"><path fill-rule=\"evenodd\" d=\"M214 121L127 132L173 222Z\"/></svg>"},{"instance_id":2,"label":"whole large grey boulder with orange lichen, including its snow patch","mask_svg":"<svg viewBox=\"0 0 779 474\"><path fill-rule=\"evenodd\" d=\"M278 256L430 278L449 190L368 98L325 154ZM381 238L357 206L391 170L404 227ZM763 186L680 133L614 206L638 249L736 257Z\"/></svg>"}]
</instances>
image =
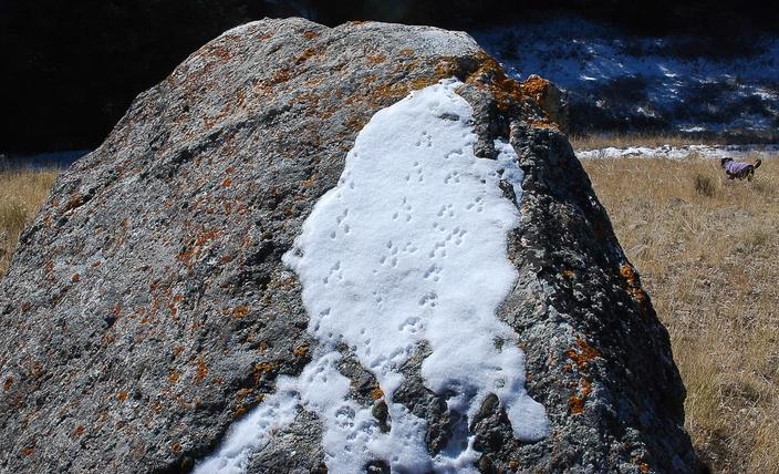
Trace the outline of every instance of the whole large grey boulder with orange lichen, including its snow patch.
<instances>
[{"instance_id":1,"label":"whole large grey boulder with orange lichen, including its snow patch","mask_svg":"<svg viewBox=\"0 0 779 474\"><path fill-rule=\"evenodd\" d=\"M527 90L467 34L425 27L263 20L194 53L62 174L21 236L0 286L0 471L206 471L204 460L229 451L220 445L230 427L256 420L249 439L262 442L242 451L249 472L336 472L349 458L333 452L322 402L336 392L349 408L337 416L370 413L355 432L366 439L356 471L403 471L405 453L376 445L404 426L415 426L408 440L420 436L422 471L444 458L481 472L696 471L667 332L570 144ZM401 140L408 134L418 143ZM411 236L373 256L390 258L387 274L366 280L394 275L415 295L408 278L419 272L419 288L440 278L454 296L426 292L419 318L402 328L381 318L363 327L381 328L382 344L395 331L413 342L366 367L365 348L383 346L349 336L350 321L365 321L356 311L366 284L350 280L342 260L330 266L349 246L328 247L316 223L352 172L360 185L386 168L353 200L368 206L350 217L363 216L350 221L354 234L370 231L370 206L384 205L373 197L406 186L406 150L422 157L405 173L415 205L440 208L453 226L466 208L489 218L466 235L479 221L463 217L440 245L429 241L430 259L446 249L470 258L454 278L428 257L404 257L416 251ZM464 171L444 176L439 154ZM360 163L373 167L350 167ZM485 200L466 204L456 189ZM411 202L397 206L397 225L382 233L403 236L404 220L416 221ZM365 251L344 267L367 261ZM401 276L390 272L397 258ZM341 289L318 289L319 270ZM314 313L325 297L346 312ZM492 305L477 308L486 319L472 328L470 298ZM434 326L425 318L446 316L436 302L464 319ZM324 327L343 329L328 339ZM486 337L494 343L471 349ZM467 381L442 381L440 368ZM331 381L314 387L313 372Z\"/></svg>"}]
</instances>

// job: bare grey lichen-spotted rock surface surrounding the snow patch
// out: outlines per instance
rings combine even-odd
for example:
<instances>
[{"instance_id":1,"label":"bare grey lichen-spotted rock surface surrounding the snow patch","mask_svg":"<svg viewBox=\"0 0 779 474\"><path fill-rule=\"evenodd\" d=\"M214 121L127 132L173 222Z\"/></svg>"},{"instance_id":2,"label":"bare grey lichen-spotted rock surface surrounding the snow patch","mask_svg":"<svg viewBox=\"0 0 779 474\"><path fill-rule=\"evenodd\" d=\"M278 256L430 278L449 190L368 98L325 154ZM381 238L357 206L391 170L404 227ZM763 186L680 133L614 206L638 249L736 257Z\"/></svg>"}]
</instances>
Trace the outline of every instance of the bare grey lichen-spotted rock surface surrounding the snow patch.
<instances>
[{"instance_id":1,"label":"bare grey lichen-spotted rock surface surrounding the snow patch","mask_svg":"<svg viewBox=\"0 0 779 474\"><path fill-rule=\"evenodd\" d=\"M55 184L0 285L0 472L187 472L211 453L311 359L301 286L281 257L356 134L450 76L474 109L477 155L510 137L524 172L509 243L519 279L499 317L552 427L519 442L488 398L468 421L477 467L696 472L668 336L529 85L465 33L300 19L201 48ZM458 420L422 381L426 350L395 400L427 421L435 453ZM343 353L354 399L384 423L373 374ZM324 472L321 432L301 411L249 472Z\"/></svg>"}]
</instances>

